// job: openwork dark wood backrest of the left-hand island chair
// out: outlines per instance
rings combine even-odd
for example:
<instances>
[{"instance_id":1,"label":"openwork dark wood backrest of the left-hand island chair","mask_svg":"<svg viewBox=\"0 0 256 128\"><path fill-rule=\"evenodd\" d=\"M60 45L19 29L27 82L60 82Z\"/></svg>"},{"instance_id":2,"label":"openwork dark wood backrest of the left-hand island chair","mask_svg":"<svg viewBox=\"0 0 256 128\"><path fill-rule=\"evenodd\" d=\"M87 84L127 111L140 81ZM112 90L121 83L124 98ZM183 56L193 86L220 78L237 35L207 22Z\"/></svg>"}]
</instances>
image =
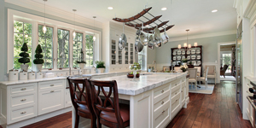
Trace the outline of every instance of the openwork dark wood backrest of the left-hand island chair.
<instances>
[{"instance_id":1,"label":"openwork dark wood backrest of the left-hand island chair","mask_svg":"<svg viewBox=\"0 0 256 128\"><path fill-rule=\"evenodd\" d=\"M78 108L78 103L82 105L86 105L90 113L93 113L93 108L91 106L90 100L90 86L87 79L73 79L67 78L70 90L71 102L73 103L73 107L75 109ZM85 91L85 92L84 92Z\"/></svg>"}]
</instances>

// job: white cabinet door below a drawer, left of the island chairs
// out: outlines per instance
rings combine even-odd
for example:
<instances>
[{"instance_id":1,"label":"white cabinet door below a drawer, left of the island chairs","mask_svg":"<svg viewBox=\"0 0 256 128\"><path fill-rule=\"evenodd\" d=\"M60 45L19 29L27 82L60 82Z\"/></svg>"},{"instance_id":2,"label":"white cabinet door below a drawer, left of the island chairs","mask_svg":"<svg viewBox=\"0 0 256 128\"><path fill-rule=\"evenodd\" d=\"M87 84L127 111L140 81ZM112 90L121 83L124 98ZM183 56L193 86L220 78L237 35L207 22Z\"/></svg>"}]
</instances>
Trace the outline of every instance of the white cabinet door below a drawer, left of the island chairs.
<instances>
[{"instance_id":1,"label":"white cabinet door below a drawer, left of the island chairs","mask_svg":"<svg viewBox=\"0 0 256 128\"><path fill-rule=\"evenodd\" d=\"M64 108L64 89L40 91L38 99L38 115Z\"/></svg>"}]
</instances>

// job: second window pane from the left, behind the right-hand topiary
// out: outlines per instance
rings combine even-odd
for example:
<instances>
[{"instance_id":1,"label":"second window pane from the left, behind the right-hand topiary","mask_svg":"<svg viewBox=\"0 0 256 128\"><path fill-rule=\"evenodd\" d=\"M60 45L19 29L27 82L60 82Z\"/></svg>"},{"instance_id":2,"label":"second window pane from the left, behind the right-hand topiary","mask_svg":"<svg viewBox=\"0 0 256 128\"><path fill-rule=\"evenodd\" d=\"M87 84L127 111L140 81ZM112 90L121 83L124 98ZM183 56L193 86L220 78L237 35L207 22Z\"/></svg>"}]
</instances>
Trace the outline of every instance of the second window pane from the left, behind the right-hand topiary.
<instances>
[{"instance_id":1,"label":"second window pane from the left, behind the right-hand topiary","mask_svg":"<svg viewBox=\"0 0 256 128\"><path fill-rule=\"evenodd\" d=\"M43 49L43 68L53 68L53 27L46 26L46 28L47 31L44 34L43 26L38 26L38 44Z\"/></svg>"}]
</instances>

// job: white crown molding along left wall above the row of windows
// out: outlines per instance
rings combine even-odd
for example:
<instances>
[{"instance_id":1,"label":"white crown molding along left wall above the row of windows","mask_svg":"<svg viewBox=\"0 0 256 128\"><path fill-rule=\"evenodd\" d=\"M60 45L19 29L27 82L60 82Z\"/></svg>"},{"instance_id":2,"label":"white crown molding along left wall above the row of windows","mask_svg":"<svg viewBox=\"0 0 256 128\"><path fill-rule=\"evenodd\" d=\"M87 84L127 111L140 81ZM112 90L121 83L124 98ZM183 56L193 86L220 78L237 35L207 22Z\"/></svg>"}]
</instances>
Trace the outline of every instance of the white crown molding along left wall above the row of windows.
<instances>
[{"instance_id":1,"label":"white crown molding along left wall above the row of windows","mask_svg":"<svg viewBox=\"0 0 256 128\"><path fill-rule=\"evenodd\" d=\"M26 9L32 9L44 13L44 4L37 3L32 0L5 0L5 3L15 4ZM73 20L73 13L61 9L55 9L51 6L45 6L45 14L54 15L67 20ZM76 15L76 22L94 26L94 20L92 18L90 19L80 15ZM95 26L102 28L102 22L95 21Z\"/></svg>"}]
</instances>

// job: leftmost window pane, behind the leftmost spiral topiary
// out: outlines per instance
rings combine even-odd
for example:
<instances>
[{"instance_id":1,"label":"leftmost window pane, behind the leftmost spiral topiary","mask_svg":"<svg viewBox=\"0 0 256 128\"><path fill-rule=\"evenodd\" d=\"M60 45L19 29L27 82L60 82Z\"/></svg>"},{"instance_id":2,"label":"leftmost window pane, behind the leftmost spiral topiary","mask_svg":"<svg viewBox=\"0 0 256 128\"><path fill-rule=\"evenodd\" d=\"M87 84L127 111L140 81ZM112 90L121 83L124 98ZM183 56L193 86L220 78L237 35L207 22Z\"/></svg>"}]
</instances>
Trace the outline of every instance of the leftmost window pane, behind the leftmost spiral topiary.
<instances>
[{"instance_id":1,"label":"leftmost window pane, behind the leftmost spiral topiary","mask_svg":"<svg viewBox=\"0 0 256 128\"><path fill-rule=\"evenodd\" d=\"M14 68L20 69L19 63L19 54L20 48L22 45L26 43L28 47L27 53L29 54L29 58L32 58L32 24L14 21ZM32 61L28 63L29 69L32 67Z\"/></svg>"}]
</instances>

